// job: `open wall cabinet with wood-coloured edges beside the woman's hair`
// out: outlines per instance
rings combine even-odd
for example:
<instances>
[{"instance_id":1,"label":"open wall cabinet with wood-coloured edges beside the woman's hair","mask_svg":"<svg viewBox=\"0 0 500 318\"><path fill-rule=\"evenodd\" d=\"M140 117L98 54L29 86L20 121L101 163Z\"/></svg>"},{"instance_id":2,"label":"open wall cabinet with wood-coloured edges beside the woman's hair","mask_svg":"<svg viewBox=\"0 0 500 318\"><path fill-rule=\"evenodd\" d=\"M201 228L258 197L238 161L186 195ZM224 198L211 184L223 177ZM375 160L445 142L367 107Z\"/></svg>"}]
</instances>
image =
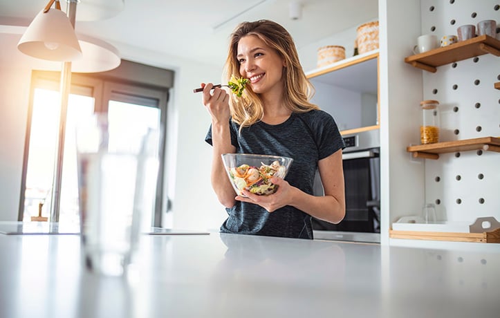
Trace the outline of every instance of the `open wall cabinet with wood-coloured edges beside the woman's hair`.
<instances>
[{"instance_id":1,"label":"open wall cabinet with wood-coloured edges beside the woman's hair","mask_svg":"<svg viewBox=\"0 0 500 318\"><path fill-rule=\"evenodd\" d=\"M330 113L342 135L379 128L378 50L306 73L311 102Z\"/></svg>"}]
</instances>

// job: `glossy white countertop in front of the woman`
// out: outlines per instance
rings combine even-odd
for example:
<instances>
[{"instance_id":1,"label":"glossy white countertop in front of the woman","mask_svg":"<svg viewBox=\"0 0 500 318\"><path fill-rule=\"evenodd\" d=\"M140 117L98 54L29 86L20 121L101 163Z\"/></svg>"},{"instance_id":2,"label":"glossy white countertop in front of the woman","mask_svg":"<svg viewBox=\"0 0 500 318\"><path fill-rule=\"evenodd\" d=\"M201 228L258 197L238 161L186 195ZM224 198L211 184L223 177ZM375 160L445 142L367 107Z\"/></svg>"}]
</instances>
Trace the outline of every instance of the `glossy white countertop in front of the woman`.
<instances>
[{"instance_id":1,"label":"glossy white countertop in front of the woman","mask_svg":"<svg viewBox=\"0 0 500 318\"><path fill-rule=\"evenodd\" d=\"M0 317L499 317L500 253L142 235L129 279L77 235L0 234Z\"/></svg>"}]
</instances>

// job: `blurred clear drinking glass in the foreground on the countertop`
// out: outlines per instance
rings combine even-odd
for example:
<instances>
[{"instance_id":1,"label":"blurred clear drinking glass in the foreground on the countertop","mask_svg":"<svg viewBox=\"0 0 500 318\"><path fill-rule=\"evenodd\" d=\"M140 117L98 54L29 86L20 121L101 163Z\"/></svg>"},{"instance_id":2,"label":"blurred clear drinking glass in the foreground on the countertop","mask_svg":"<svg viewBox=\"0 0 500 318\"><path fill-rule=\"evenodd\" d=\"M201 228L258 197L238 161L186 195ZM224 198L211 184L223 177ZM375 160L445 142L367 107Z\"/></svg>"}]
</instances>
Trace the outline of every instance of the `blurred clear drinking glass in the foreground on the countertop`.
<instances>
[{"instance_id":1,"label":"blurred clear drinking glass in the foreground on the countertop","mask_svg":"<svg viewBox=\"0 0 500 318\"><path fill-rule=\"evenodd\" d=\"M141 215L154 207L158 131L95 114L78 124L76 144L84 265L121 276L138 245Z\"/></svg>"}]
</instances>

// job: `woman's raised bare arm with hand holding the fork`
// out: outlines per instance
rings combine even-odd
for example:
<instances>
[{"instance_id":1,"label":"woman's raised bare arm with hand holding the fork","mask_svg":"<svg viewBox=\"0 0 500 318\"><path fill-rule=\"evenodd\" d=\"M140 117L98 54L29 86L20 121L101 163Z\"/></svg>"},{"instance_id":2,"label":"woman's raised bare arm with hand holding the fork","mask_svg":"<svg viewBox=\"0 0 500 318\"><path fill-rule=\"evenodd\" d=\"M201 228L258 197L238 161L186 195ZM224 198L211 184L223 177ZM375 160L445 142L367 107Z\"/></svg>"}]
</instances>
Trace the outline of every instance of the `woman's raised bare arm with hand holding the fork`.
<instances>
[{"instance_id":1,"label":"woman's raised bare arm with hand holding the fork","mask_svg":"<svg viewBox=\"0 0 500 318\"><path fill-rule=\"evenodd\" d=\"M210 180L212 188L225 207L232 207L234 200L234 189L225 172L222 162L222 153L234 153L236 148L231 144L229 128L229 95L221 88L214 88L210 93L212 84L201 84L203 89L203 104L212 116L212 171Z\"/></svg>"}]
</instances>

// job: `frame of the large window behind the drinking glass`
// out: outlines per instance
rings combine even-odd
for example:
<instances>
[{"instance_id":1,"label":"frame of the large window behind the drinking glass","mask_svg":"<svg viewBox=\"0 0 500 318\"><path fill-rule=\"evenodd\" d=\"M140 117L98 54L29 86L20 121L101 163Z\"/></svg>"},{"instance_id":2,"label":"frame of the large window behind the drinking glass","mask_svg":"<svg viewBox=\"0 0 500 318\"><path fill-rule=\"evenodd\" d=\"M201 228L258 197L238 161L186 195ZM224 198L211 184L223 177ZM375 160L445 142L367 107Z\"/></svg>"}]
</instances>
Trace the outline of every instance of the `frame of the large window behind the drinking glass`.
<instances>
[{"instance_id":1,"label":"frame of the large window behind the drinking glass","mask_svg":"<svg viewBox=\"0 0 500 318\"><path fill-rule=\"evenodd\" d=\"M173 72L162 70L151 66L143 66L133 62L122 61L122 72L111 71L105 73L82 74L73 73L71 75L71 94L90 96L95 99L94 112L107 112L109 100L118 102L127 102L132 104L141 104L160 109L160 127L161 141L159 156L160 165L158 168L158 184L156 187L156 202L152 226L160 227L162 223L162 212L164 205L169 201L164 199L164 189L167 175L165 169L166 162L166 142L167 142L167 104L169 101L169 88L172 86ZM143 66L143 67L142 67ZM130 80L127 74L130 70L140 70L140 79L142 82ZM128 72L127 72L128 71ZM162 72L163 71L163 72ZM110 76L113 75L113 76ZM150 77L147 74L151 74ZM151 78L158 83L151 83ZM33 118L33 102L35 88L46 88L60 91L60 72L53 71L33 71L30 84L30 97L28 104L26 137L24 143L23 167L21 172L21 193L19 196L18 221L24 218L24 201L26 191L26 174L28 171L28 157L30 147L30 133ZM156 100L156 104L154 101Z\"/></svg>"}]
</instances>

